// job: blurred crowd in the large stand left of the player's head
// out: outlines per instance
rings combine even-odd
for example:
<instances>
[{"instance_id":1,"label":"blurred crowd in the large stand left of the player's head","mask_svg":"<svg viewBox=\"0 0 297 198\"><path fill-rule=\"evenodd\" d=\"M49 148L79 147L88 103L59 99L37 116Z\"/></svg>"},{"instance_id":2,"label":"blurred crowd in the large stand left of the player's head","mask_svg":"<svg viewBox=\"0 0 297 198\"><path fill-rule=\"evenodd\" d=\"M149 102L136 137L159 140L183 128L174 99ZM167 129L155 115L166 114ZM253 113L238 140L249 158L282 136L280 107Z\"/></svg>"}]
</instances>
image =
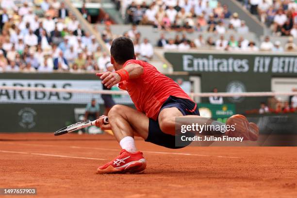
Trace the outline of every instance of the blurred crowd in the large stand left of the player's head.
<instances>
[{"instance_id":1,"label":"blurred crowd in the large stand left of the player's head","mask_svg":"<svg viewBox=\"0 0 297 198\"><path fill-rule=\"evenodd\" d=\"M110 61L64 2L18 2L0 0L0 72L94 71Z\"/></svg>"}]
</instances>

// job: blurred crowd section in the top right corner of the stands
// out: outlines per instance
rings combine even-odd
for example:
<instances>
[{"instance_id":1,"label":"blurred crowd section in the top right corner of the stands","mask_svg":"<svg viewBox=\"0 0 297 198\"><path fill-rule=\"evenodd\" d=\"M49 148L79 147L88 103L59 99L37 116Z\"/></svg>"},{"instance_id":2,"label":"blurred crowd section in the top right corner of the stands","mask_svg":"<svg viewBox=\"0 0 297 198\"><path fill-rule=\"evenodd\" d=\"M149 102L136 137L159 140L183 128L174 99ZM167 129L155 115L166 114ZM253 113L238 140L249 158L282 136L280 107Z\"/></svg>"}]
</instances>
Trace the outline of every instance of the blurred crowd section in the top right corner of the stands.
<instances>
[{"instance_id":1,"label":"blurred crowd section in the top right corner of the stands","mask_svg":"<svg viewBox=\"0 0 297 198\"><path fill-rule=\"evenodd\" d=\"M276 35L297 38L297 0L240 0Z\"/></svg>"}]
</instances>

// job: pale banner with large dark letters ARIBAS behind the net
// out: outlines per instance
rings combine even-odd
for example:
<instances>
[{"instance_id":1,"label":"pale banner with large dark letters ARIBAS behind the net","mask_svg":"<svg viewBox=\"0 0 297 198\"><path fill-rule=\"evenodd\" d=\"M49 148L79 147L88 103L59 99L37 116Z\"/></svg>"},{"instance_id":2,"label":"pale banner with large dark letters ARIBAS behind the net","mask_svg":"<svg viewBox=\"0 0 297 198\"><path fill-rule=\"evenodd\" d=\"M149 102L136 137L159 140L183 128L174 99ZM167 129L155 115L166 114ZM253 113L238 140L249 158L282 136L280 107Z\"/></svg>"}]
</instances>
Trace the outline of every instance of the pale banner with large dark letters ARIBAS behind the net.
<instances>
[{"instance_id":1,"label":"pale banner with large dark letters ARIBAS behind the net","mask_svg":"<svg viewBox=\"0 0 297 198\"><path fill-rule=\"evenodd\" d=\"M102 84L99 80L0 79L0 86L102 90ZM0 89L0 103L86 104L91 99L96 99L99 104L103 104L100 94ZM132 104L128 95L114 95L114 100L120 104Z\"/></svg>"}]
</instances>

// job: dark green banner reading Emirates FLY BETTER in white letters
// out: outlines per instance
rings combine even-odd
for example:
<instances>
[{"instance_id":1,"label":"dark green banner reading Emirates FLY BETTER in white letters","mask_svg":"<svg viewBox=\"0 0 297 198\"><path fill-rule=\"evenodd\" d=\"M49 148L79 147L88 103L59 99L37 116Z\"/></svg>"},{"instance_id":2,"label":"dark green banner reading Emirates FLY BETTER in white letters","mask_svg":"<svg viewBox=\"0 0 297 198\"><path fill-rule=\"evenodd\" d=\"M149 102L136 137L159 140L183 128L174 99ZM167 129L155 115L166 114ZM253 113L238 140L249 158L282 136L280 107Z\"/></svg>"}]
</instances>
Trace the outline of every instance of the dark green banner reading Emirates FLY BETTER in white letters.
<instances>
[{"instance_id":1,"label":"dark green banner reading Emirates FLY BETTER in white letters","mask_svg":"<svg viewBox=\"0 0 297 198\"><path fill-rule=\"evenodd\" d=\"M297 74L297 55L165 53L174 71Z\"/></svg>"}]
</instances>

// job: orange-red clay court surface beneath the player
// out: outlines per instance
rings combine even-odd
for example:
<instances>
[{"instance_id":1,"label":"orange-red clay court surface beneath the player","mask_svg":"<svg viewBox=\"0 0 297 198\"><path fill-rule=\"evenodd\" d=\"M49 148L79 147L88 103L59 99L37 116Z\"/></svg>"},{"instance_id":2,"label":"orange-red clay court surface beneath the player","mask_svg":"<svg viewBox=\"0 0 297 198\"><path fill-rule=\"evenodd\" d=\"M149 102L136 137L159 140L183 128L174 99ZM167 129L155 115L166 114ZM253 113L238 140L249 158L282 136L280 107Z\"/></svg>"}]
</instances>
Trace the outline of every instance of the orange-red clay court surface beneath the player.
<instances>
[{"instance_id":1,"label":"orange-red clay court surface beneath the player","mask_svg":"<svg viewBox=\"0 0 297 198\"><path fill-rule=\"evenodd\" d=\"M35 187L32 197L297 197L296 147L172 150L138 139L148 161L144 174L98 175L97 167L120 151L112 136L1 133L0 139L0 187Z\"/></svg>"}]
</instances>

